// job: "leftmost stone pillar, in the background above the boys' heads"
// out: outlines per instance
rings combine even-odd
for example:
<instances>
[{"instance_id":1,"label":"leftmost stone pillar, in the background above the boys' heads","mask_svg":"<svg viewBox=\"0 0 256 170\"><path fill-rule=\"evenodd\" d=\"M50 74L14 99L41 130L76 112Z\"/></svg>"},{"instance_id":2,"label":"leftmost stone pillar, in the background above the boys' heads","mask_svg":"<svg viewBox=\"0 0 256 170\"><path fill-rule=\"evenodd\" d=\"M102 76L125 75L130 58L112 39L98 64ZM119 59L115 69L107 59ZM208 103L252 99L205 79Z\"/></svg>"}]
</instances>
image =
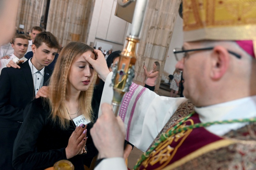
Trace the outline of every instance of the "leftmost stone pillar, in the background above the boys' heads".
<instances>
[{"instance_id":1,"label":"leftmost stone pillar, in the background above the boys' heads","mask_svg":"<svg viewBox=\"0 0 256 170\"><path fill-rule=\"evenodd\" d=\"M34 26L40 26L41 16L44 15L46 0L20 0L16 18L16 26L24 25L26 33Z\"/></svg>"}]
</instances>

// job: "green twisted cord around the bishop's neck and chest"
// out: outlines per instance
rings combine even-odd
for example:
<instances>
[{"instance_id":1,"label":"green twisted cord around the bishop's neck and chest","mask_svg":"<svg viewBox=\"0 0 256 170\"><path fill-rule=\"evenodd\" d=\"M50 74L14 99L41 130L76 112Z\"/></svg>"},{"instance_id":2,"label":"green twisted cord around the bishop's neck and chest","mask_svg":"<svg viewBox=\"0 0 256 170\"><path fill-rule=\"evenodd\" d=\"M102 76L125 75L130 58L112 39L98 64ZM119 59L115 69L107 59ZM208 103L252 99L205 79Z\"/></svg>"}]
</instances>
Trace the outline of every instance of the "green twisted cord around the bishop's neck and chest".
<instances>
[{"instance_id":1,"label":"green twisted cord around the bishop's neck and chest","mask_svg":"<svg viewBox=\"0 0 256 170\"><path fill-rule=\"evenodd\" d=\"M180 133L182 131L187 131L187 130L190 130L190 129L201 128L201 127L207 127L207 126L210 126L210 125L213 125L213 124L256 122L256 117L253 117L253 118L250 118L250 119L234 119L234 120L214 121L214 122L206 122L206 123L196 123L194 125L186 125L183 128L177 129L181 124L183 124L184 121L186 121L188 118L190 118L194 113L195 113L195 111L193 111L191 114L189 114L187 117L185 117L182 121L180 121L175 126L173 126L169 131L167 131L166 133L162 133L159 140L156 141L150 149L148 149L146 152L144 152L141 155L141 158L138 159L138 162L134 166L133 169L137 169L140 166L140 164L150 156L151 152L153 150L155 150L156 147L162 141L165 141L169 137L171 137L172 135L175 135L175 134Z\"/></svg>"}]
</instances>

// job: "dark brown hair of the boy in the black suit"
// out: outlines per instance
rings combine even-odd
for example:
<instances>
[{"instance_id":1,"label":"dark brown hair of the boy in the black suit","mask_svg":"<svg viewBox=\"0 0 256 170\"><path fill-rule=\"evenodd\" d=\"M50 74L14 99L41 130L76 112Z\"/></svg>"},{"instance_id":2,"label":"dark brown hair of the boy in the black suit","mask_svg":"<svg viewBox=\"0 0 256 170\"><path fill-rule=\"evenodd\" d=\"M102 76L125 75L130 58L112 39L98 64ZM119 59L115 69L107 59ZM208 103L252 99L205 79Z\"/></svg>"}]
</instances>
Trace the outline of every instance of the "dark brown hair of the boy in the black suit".
<instances>
[{"instance_id":1,"label":"dark brown hair of the boy in the black suit","mask_svg":"<svg viewBox=\"0 0 256 170\"><path fill-rule=\"evenodd\" d=\"M50 32L41 32L37 34L33 44L35 45L35 47L38 48L42 45L42 43L45 43L46 46L48 46L49 48L57 48L57 49L60 48L59 41Z\"/></svg>"}]
</instances>

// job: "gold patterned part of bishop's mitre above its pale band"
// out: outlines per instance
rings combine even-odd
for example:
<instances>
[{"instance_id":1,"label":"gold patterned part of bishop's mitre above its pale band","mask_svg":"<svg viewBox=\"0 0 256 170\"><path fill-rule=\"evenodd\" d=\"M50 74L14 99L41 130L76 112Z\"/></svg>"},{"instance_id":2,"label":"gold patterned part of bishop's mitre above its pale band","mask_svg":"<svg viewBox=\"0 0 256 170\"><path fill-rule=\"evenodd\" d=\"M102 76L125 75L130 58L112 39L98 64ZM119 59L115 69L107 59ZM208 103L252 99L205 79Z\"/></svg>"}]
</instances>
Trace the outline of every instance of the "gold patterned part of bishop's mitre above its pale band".
<instances>
[{"instance_id":1,"label":"gold patterned part of bishop's mitre above its pale band","mask_svg":"<svg viewBox=\"0 0 256 170\"><path fill-rule=\"evenodd\" d=\"M186 0L183 2L184 31L256 24L255 3L252 0Z\"/></svg>"}]
</instances>

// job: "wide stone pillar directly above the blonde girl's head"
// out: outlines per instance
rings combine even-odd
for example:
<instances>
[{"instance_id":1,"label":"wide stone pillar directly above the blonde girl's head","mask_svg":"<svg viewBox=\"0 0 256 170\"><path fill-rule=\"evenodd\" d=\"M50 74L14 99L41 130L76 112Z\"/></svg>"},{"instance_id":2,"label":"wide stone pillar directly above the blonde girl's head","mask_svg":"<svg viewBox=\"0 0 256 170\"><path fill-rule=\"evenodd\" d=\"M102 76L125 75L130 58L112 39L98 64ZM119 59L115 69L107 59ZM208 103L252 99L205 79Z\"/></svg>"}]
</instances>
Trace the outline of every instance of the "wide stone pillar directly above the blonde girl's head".
<instances>
[{"instance_id":1,"label":"wide stone pillar directly above the blonde girl's head","mask_svg":"<svg viewBox=\"0 0 256 170\"><path fill-rule=\"evenodd\" d=\"M86 42L95 0L51 0L46 30L62 46L71 41Z\"/></svg>"}]
</instances>

